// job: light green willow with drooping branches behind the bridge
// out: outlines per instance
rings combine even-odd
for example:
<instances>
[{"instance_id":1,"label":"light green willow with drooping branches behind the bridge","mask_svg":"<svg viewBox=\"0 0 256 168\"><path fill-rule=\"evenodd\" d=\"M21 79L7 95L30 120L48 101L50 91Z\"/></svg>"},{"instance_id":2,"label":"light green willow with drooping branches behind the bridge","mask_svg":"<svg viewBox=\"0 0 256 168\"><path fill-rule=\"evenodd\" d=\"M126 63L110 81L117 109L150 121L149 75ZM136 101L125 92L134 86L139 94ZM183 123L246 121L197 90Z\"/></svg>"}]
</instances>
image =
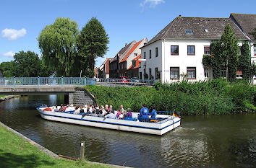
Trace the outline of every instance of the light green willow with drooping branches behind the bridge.
<instances>
[{"instance_id":1,"label":"light green willow with drooping branches behind the bridge","mask_svg":"<svg viewBox=\"0 0 256 168\"><path fill-rule=\"evenodd\" d=\"M58 76L72 75L77 54L76 39L79 34L77 22L69 18L57 18L47 25L38 37L43 61L56 71Z\"/></svg>"}]
</instances>

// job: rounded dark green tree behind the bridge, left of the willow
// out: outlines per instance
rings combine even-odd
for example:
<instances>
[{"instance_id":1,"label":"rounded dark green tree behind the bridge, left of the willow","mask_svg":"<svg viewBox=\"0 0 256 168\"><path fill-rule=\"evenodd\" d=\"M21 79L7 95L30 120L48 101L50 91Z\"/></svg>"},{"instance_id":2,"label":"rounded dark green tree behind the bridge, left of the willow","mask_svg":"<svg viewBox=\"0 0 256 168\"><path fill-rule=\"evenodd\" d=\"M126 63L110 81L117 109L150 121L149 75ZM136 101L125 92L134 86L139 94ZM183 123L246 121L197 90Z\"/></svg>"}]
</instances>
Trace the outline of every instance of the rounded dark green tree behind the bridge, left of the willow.
<instances>
[{"instance_id":1,"label":"rounded dark green tree behind the bridge, left of the willow","mask_svg":"<svg viewBox=\"0 0 256 168\"><path fill-rule=\"evenodd\" d=\"M15 53L13 61L14 76L36 77L40 73L41 61L38 54L30 50Z\"/></svg>"}]
</instances>

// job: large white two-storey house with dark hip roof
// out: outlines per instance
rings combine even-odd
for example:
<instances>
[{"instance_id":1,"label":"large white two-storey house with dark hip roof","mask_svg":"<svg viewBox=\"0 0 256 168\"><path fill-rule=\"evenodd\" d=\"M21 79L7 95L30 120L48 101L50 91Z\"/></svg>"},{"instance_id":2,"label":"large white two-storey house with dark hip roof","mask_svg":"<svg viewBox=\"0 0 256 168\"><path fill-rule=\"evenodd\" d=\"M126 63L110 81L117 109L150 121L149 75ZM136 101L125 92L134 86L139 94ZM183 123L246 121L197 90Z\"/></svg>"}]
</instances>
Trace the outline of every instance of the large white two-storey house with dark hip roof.
<instances>
[{"instance_id":1,"label":"large white two-storey house with dark hip roof","mask_svg":"<svg viewBox=\"0 0 256 168\"><path fill-rule=\"evenodd\" d=\"M220 40L230 25L239 45L248 37L231 18L176 17L153 39L142 46L141 79L162 82L203 81L213 78L213 69L202 65L204 54L210 54L210 43ZM226 71L223 68L223 73Z\"/></svg>"}]
</instances>

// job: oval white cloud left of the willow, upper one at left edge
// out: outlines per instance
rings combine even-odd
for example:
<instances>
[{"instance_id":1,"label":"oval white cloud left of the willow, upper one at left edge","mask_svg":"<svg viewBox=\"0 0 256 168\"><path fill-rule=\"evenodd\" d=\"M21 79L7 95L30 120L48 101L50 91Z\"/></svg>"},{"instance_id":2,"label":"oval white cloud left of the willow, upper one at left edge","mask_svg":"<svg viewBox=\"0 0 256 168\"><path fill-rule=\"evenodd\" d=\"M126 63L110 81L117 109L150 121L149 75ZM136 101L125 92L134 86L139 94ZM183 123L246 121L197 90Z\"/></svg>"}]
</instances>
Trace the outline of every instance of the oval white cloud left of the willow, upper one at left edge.
<instances>
[{"instance_id":1,"label":"oval white cloud left of the willow, upper one at left edge","mask_svg":"<svg viewBox=\"0 0 256 168\"><path fill-rule=\"evenodd\" d=\"M17 40L20 37L23 37L27 34L27 30L21 29L21 30L15 30L15 29L4 29L1 30L1 36L7 37L8 40Z\"/></svg>"}]
</instances>

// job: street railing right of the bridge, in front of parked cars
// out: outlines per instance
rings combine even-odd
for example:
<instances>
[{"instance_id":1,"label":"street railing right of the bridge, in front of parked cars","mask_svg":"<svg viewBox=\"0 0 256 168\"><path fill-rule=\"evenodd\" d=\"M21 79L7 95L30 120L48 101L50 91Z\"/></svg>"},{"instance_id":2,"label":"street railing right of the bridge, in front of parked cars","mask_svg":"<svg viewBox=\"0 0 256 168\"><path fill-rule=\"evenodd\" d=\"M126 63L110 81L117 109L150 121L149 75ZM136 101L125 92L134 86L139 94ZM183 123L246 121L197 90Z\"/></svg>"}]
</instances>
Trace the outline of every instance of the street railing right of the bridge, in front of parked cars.
<instances>
[{"instance_id":1,"label":"street railing right of the bridge, in front of parked cars","mask_svg":"<svg viewBox=\"0 0 256 168\"><path fill-rule=\"evenodd\" d=\"M127 84L131 86L141 86L149 85L153 86L154 80L143 80L143 79L104 79L104 78L95 78L96 82L107 83L107 84Z\"/></svg>"}]
</instances>

